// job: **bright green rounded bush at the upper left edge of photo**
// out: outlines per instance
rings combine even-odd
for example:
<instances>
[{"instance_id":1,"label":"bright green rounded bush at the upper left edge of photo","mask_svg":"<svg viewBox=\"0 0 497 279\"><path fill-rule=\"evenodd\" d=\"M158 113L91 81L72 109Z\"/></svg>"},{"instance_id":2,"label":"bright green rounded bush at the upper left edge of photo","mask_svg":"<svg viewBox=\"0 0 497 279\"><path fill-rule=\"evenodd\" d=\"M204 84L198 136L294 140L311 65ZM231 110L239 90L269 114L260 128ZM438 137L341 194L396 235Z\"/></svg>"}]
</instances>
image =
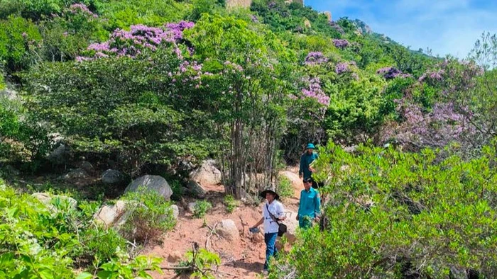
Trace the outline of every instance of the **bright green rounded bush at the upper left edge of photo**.
<instances>
[{"instance_id":1,"label":"bright green rounded bush at the upper left edge of photo","mask_svg":"<svg viewBox=\"0 0 497 279\"><path fill-rule=\"evenodd\" d=\"M26 69L33 64L35 48L40 44L38 27L25 18L10 16L0 21L0 60L7 72Z\"/></svg>"}]
</instances>

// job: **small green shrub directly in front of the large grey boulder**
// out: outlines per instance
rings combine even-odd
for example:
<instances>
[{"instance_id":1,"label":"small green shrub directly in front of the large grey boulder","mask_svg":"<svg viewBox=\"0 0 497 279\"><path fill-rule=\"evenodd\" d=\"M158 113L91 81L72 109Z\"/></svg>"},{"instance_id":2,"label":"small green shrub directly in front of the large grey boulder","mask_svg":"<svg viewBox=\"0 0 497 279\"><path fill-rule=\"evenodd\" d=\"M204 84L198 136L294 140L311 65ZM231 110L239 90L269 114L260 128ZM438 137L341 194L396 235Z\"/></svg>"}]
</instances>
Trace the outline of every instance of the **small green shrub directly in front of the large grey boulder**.
<instances>
[{"instance_id":1,"label":"small green shrub directly in front of the large grey boulder","mask_svg":"<svg viewBox=\"0 0 497 279\"><path fill-rule=\"evenodd\" d=\"M123 226L124 236L130 241L147 243L158 241L162 234L176 224L170 203L153 191L139 188L124 195L127 209L131 212Z\"/></svg>"}]
</instances>

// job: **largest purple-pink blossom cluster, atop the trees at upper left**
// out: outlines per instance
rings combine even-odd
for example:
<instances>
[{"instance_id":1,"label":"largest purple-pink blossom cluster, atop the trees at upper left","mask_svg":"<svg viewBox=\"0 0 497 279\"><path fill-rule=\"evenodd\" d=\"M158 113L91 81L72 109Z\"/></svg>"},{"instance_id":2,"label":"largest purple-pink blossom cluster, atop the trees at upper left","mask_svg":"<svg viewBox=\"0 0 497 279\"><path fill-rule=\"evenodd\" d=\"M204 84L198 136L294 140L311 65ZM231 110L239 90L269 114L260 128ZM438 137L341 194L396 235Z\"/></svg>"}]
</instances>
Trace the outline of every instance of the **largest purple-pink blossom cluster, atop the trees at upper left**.
<instances>
[{"instance_id":1,"label":"largest purple-pink blossom cluster, atop the trees at upper left","mask_svg":"<svg viewBox=\"0 0 497 279\"><path fill-rule=\"evenodd\" d=\"M181 50L176 42L182 39L182 31L192 28L195 23L181 21L180 23L168 23L165 29L148 27L146 25L131 25L131 30L116 29L107 42L94 43L87 50L94 51L93 57L77 57L77 61L98 59L109 56L136 57L145 49L157 50L163 42L175 45L175 52L182 57Z\"/></svg>"}]
</instances>

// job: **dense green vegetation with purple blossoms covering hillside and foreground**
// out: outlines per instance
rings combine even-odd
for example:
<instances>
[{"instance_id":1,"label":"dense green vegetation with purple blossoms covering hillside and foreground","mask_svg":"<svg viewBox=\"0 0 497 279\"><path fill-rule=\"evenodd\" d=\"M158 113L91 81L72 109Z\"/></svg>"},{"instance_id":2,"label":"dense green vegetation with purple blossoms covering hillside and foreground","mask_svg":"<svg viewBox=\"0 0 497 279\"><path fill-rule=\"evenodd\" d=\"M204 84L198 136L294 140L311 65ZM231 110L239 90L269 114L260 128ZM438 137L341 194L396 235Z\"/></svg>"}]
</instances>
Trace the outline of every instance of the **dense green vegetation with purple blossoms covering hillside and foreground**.
<instances>
[{"instance_id":1,"label":"dense green vegetation with purple blossoms covering hillside and foreground","mask_svg":"<svg viewBox=\"0 0 497 279\"><path fill-rule=\"evenodd\" d=\"M60 174L84 160L127 178L155 173L180 184L192 166L214 158L226 192L241 198L275 181L315 142L328 145L320 159L328 227L302 234L280 272L439 278L470 268L493 278L496 36L484 34L459 60L283 0L224 6L0 0L0 174L12 180L8 165L25 176ZM365 145L352 154L339 147L358 144ZM67 153L54 160L60 147ZM87 198L109 193L104 187ZM54 215L35 210L29 195L1 189L5 274L54 268L67 277L89 266L131 274L147 266L116 254L119 234L87 229L92 206ZM158 208L138 209L136 220L165 213L167 204L148 201ZM142 225L151 234L173 226ZM115 246L102 251L99 237ZM33 243L38 258L30 258ZM90 248L75 249L80 243Z\"/></svg>"}]
</instances>

